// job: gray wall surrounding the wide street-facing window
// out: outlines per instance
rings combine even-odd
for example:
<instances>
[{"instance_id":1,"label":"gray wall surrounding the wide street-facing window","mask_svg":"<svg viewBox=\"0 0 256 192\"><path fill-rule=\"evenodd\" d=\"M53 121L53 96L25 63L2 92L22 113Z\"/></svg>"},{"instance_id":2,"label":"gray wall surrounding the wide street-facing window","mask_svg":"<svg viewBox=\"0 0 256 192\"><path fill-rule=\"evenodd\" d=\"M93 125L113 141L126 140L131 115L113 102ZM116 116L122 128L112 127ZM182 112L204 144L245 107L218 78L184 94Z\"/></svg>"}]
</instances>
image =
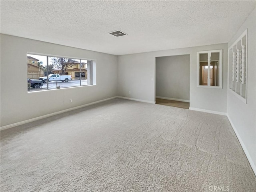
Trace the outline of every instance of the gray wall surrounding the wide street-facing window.
<instances>
[{"instance_id":1,"label":"gray wall surrounding the wide street-facing window","mask_svg":"<svg viewBox=\"0 0 256 192\"><path fill-rule=\"evenodd\" d=\"M117 56L4 34L0 38L1 126L117 94ZM96 60L96 85L28 93L27 52Z\"/></svg>"}]
</instances>

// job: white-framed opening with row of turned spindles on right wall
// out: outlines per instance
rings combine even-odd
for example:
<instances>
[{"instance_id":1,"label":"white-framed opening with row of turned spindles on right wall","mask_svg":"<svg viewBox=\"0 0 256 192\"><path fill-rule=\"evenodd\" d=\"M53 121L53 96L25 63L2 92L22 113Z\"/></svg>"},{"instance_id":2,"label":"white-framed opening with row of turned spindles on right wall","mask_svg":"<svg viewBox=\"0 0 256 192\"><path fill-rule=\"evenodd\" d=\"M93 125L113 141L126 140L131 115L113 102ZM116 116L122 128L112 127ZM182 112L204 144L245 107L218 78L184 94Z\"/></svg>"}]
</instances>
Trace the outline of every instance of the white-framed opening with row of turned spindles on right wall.
<instances>
[{"instance_id":1,"label":"white-framed opening with row of turned spindles on right wall","mask_svg":"<svg viewBox=\"0 0 256 192\"><path fill-rule=\"evenodd\" d=\"M228 48L228 88L247 102L247 29Z\"/></svg>"}]
</instances>

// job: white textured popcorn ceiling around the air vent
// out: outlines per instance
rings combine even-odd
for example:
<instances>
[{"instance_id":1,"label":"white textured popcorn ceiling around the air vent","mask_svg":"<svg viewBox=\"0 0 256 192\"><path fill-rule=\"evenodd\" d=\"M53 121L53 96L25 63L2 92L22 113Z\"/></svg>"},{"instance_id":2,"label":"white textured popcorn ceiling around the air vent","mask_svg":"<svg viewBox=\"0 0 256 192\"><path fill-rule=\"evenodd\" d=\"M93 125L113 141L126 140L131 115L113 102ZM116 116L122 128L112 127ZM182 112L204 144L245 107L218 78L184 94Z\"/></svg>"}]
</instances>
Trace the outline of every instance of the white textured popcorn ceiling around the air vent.
<instances>
[{"instance_id":1,"label":"white textured popcorn ceiling around the air vent","mask_svg":"<svg viewBox=\"0 0 256 192\"><path fill-rule=\"evenodd\" d=\"M228 42L255 1L2 1L1 33L114 55ZM127 36L108 32L121 30Z\"/></svg>"}]
</instances>

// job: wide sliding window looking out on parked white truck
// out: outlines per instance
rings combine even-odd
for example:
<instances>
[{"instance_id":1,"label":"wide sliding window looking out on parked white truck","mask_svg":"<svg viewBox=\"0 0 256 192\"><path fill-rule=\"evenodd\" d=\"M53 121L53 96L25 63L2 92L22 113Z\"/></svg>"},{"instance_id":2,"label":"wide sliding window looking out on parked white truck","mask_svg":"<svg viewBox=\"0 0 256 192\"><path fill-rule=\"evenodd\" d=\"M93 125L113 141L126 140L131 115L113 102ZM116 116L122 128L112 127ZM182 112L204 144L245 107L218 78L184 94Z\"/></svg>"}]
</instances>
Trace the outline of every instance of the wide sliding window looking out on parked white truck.
<instances>
[{"instance_id":1,"label":"wide sliding window looking out on parked white truck","mask_svg":"<svg viewBox=\"0 0 256 192\"><path fill-rule=\"evenodd\" d=\"M92 60L27 54L28 92L93 84ZM35 66L29 58L38 60ZM95 66L94 66L95 67Z\"/></svg>"}]
</instances>

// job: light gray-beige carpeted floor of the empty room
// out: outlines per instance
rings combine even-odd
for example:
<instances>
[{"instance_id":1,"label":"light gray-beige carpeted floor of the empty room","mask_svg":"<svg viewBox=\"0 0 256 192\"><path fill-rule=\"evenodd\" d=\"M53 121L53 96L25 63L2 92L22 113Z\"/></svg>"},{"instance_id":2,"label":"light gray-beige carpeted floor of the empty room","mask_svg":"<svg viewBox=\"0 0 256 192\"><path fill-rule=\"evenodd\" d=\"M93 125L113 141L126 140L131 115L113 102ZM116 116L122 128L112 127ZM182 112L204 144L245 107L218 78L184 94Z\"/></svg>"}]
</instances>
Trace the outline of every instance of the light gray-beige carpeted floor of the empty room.
<instances>
[{"instance_id":1,"label":"light gray-beige carpeted floor of the empty room","mask_svg":"<svg viewBox=\"0 0 256 192\"><path fill-rule=\"evenodd\" d=\"M1 192L214 187L256 191L226 116L114 99L1 132Z\"/></svg>"}]
</instances>

